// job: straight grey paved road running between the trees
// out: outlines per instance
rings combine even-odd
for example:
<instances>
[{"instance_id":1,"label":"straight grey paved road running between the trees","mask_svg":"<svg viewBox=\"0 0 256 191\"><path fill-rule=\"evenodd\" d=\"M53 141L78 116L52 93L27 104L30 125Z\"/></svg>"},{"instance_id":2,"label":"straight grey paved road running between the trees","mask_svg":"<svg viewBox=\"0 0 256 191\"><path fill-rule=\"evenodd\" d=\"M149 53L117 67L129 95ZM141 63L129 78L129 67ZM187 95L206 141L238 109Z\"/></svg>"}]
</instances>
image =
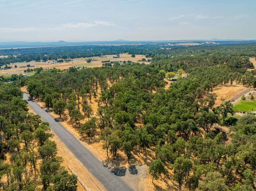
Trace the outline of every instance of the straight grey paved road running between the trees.
<instances>
[{"instance_id":1,"label":"straight grey paved road running between the trees","mask_svg":"<svg viewBox=\"0 0 256 191\"><path fill-rule=\"evenodd\" d=\"M52 131L59 136L67 148L81 161L85 167L101 182L108 191L132 191L132 189L118 176L110 172L110 169L104 167L96 157L86 149L75 136L69 133L60 123L42 109L36 102L29 99L26 93L23 99L27 100L29 106L41 116L42 120L50 124Z\"/></svg>"}]
</instances>

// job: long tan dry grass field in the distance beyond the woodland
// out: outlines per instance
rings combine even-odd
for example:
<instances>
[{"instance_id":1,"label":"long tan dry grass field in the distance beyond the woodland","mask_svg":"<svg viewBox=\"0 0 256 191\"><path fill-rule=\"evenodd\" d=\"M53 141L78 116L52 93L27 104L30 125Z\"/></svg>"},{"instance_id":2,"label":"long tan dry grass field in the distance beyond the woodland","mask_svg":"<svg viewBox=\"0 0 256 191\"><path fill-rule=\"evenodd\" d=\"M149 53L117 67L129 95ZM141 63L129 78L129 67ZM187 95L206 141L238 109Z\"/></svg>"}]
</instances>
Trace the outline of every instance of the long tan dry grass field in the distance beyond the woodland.
<instances>
[{"instance_id":1,"label":"long tan dry grass field in the distance beyond the woodland","mask_svg":"<svg viewBox=\"0 0 256 191\"><path fill-rule=\"evenodd\" d=\"M142 58L146 58L145 55L136 55L134 58L131 57L131 55L128 54L121 54L120 58L113 58L115 55L104 55L104 57L91 57L92 59L95 59L95 61L92 61L91 63L87 63L86 59L88 58L75 58L72 59L69 62L61 62L61 63L53 63L53 60L48 60L47 62L22 62L22 63L14 63L10 64L12 66L11 69L8 70L0 70L0 76L7 76L7 75L12 75L12 74L24 74L24 70L28 69L28 67L25 68L20 68L20 66L26 66L27 64L31 64L35 67L42 67L43 69L51 69L51 68L58 68L58 69L67 69L72 66L81 66L81 67L88 67L88 68L93 68L93 67L101 67L103 60L110 60L110 61L133 61L133 62L138 62ZM15 64L17 65L17 68L14 68Z\"/></svg>"}]
</instances>

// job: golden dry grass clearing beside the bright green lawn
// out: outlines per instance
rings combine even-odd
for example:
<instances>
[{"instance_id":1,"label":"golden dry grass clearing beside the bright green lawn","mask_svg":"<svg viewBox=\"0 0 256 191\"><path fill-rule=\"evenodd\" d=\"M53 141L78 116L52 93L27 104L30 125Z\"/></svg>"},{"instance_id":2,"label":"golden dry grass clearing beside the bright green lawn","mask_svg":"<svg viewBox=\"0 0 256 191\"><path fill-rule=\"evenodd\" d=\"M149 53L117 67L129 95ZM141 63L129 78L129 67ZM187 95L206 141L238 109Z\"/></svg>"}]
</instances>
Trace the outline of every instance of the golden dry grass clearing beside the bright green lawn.
<instances>
[{"instance_id":1,"label":"golden dry grass clearing beside the bright green lawn","mask_svg":"<svg viewBox=\"0 0 256 191\"><path fill-rule=\"evenodd\" d=\"M233 83L233 85L221 85L216 87L212 93L217 96L215 106L221 105L224 101L228 101L242 91L249 89L241 84Z\"/></svg>"}]
</instances>

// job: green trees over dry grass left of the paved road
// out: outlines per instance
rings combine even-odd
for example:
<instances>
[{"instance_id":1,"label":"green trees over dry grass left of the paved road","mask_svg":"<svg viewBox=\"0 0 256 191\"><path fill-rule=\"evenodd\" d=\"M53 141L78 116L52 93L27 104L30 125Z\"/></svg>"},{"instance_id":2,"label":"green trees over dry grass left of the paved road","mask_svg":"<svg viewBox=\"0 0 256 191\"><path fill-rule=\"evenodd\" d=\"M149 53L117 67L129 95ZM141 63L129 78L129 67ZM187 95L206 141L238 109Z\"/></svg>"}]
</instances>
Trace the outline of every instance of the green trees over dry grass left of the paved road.
<instances>
[{"instance_id":1,"label":"green trees over dry grass left of the paved road","mask_svg":"<svg viewBox=\"0 0 256 191\"><path fill-rule=\"evenodd\" d=\"M28 112L23 93L0 83L0 188L6 191L75 191L77 178L62 167L49 124Z\"/></svg>"}]
</instances>

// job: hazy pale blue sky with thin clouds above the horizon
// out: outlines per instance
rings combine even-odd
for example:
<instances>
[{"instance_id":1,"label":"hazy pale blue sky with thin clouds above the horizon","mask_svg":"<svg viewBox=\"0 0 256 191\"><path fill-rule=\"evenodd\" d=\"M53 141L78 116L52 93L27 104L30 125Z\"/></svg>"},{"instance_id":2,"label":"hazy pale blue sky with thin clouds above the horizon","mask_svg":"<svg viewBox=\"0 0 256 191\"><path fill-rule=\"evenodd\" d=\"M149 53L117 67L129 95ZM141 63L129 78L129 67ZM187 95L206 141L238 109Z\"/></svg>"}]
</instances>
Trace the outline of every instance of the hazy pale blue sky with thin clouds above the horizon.
<instances>
[{"instance_id":1,"label":"hazy pale blue sky with thin clouds above the horizon","mask_svg":"<svg viewBox=\"0 0 256 191\"><path fill-rule=\"evenodd\" d=\"M0 41L256 39L256 0L0 0Z\"/></svg>"}]
</instances>

